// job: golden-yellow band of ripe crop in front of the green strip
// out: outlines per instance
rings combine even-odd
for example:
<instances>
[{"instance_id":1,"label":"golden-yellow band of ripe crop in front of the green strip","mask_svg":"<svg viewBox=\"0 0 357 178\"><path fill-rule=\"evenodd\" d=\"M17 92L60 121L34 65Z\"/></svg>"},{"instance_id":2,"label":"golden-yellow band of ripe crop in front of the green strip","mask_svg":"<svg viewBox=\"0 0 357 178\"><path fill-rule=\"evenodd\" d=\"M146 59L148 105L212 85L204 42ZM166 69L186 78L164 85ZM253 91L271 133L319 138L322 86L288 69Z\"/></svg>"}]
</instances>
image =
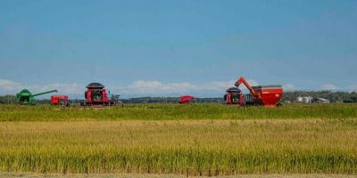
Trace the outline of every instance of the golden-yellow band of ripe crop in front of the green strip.
<instances>
[{"instance_id":1,"label":"golden-yellow band of ripe crop in front of the green strip","mask_svg":"<svg viewBox=\"0 0 357 178\"><path fill-rule=\"evenodd\" d=\"M357 174L357 119L2 122L0 171Z\"/></svg>"}]
</instances>

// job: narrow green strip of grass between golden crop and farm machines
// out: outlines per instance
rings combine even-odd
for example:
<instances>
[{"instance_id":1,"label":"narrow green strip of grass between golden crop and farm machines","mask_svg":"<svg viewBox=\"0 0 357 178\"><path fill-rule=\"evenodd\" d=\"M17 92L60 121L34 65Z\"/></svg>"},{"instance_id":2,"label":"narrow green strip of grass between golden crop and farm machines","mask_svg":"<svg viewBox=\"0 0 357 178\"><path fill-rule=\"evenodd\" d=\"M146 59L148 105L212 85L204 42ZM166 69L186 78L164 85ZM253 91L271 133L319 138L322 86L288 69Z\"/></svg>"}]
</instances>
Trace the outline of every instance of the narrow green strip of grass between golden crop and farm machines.
<instances>
[{"instance_id":1,"label":"narrow green strip of grass between golden crop and farm machines","mask_svg":"<svg viewBox=\"0 0 357 178\"><path fill-rule=\"evenodd\" d=\"M0 121L354 118L357 104L289 104L281 108L220 104L142 104L105 109L0 105Z\"/></svg>"}]
</instances>

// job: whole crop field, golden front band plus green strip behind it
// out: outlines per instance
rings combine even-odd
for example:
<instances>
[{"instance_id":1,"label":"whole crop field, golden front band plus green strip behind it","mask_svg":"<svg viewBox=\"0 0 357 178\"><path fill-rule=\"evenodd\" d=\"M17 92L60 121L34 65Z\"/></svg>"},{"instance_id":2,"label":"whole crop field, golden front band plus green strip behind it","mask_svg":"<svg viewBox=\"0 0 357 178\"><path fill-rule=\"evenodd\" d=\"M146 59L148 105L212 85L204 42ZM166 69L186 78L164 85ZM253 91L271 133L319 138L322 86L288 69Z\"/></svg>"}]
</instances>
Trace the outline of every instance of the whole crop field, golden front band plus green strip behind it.
<instances>
[{"instance_id":1,"label":"whole crop field, golden front band plus green strip behind it","mask_svg":"<svg viewBox=\"0 0 357 178\"><path fill-rule=\"evenodd\" d=\"M356 109L0 106L0 172L355 175Z\"/></svg>"}]
</instances>

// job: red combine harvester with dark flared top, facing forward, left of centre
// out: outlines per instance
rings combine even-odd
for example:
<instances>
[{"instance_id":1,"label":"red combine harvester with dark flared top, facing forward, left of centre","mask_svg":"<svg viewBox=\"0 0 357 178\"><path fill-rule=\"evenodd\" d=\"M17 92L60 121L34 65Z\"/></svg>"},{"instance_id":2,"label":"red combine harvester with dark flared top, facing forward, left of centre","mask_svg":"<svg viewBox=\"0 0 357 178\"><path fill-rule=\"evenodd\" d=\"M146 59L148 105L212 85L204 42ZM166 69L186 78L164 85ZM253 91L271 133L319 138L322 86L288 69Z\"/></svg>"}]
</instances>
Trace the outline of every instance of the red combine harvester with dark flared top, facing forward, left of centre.
<instances>
[{"instance_id":1,"label":"red combine harvester with dark flared top, facing forward, left of centre","mask_svg":"<svg viewBox=\"0 0 357 178\"><path fill-rule=\"evenodd\" d=\"M115 101L108 99L108 94L106 93L104 85L99 83L90 83L86 87L87 87L87 91L85 93L86 102L81 103L81 105L85 105L85 106L115 105Z\"/></svg>"}]
</instances>

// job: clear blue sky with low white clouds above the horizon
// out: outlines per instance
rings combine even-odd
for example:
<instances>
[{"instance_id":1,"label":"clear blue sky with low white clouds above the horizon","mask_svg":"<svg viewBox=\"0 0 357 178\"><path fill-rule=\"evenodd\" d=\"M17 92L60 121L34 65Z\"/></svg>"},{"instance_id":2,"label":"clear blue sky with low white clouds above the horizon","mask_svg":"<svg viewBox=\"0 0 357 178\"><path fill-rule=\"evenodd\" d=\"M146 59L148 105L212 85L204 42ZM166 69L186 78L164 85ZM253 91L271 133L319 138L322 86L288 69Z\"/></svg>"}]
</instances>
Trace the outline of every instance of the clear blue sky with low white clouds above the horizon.
<instances>
[{"instance_id":1,"label":"clear blue sky with low white clouds above the horizon","mask_svg":"<svg viewBox=\"0 0 357 178\"><path fill-rule=\"evenodd\" d=\"M357 1L0 1L0 94L357 91Z\"/></svg>"}]
</instances>

